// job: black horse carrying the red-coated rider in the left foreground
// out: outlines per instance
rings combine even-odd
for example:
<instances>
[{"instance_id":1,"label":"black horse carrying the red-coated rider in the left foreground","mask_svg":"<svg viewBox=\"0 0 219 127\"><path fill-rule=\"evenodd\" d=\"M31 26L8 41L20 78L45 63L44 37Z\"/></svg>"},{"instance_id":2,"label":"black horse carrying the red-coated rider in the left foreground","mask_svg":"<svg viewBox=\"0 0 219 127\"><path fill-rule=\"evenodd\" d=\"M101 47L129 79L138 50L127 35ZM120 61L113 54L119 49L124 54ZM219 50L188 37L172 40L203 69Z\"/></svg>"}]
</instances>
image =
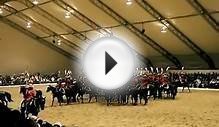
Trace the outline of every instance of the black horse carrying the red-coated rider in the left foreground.
<instances>
[{"instance_id":1,"label":"black horse carrying the red-coated rider in the left foreground","mask_svg":"<svg viewBox=\"0 0 219 127\"><path fill-rule=\"evenodd\" d=\"M20 93L24 96L26 94L26 88L24 86L20 87ZM46 103L46 98L43 97L41 90L36 90L36 96L31 100L23 100L21 102L21 115L27 118L29 114L37 116L40 110L44 110Z\"/></svg>"}]
</instances>

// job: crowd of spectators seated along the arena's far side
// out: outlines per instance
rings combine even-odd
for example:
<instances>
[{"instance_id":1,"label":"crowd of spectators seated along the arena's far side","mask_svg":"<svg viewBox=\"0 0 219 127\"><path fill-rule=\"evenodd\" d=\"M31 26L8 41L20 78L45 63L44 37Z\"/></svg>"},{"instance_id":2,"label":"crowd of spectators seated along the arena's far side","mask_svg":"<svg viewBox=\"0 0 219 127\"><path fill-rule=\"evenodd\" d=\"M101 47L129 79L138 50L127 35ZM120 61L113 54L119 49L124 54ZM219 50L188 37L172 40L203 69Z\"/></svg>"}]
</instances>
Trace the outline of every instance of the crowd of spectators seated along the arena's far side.
<instances>
[{"instance_id":1,"label":"crowd of spectators seated along the arena's far side","mask_svg":"<svg viewBox=\"0 0 219 127\"><path fill-rule=\"evenodd\" d=\"M171 82L175 82L179 78L181 73L187 77L187 83L193 88L216 88L219 89L219 73L209 72L194 72L186 73L186 71L169 71L162 68L137 68L138 75L144 73L169 73L171 75ZM1 75L0 74L0 86L6 85L24 85L27 81L32 81L34 84L41 83L57 83L62 78L71 78L72 72L70 70L64 70L63 76L61 72L55 72L51 74L35 73L30 74L28 72L13 74L13 75Z\"/></svg>"}]
</instances>

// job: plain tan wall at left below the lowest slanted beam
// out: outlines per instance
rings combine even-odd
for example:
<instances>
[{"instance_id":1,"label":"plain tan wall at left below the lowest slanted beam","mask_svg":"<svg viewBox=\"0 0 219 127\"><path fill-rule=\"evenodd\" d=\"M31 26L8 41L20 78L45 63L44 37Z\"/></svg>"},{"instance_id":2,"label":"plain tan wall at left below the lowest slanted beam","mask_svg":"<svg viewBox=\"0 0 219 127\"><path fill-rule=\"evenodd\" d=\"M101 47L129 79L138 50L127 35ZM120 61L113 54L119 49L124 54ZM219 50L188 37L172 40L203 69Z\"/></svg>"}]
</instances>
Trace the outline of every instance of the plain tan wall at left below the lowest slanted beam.
<instances>
[{"instance_id":1,"label":"plain tan wall at left below the lowest slanted beam","mask_svg":"<svg viewBox=\"0 0 219 127\"><path fill-rule=\"evenodd\" d=\"M51 73L77 66L76 62L8 25L0 22L0 28L0 74L25 70Z\"/></svg>"}]
</instances>

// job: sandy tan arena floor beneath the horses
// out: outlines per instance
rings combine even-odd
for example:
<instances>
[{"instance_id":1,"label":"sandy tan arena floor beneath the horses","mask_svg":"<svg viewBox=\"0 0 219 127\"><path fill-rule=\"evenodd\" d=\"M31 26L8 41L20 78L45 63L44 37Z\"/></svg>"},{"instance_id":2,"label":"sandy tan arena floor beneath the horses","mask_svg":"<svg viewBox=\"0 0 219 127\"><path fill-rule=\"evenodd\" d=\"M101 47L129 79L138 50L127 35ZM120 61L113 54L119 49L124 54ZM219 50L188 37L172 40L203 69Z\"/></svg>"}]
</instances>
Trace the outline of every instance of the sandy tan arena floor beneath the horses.
<instances>
[{"instance_id":1,"label":"sandy tan arena floor beneath the horses","mask_svg":"<svg viewBox=\"0 0 219 127\"><path fill-rule=\"evenodd\" d=\"M37 86L45 91L45 86ZM18 88L0 88L12 93L18 108ZM147 106L109 106L100 103L71 104L54 107L51 94L46 95L46 109L40 117L61 122L66 127L219 127L219 92L179 93L176 100L150 100Z\"/></svg>"}]
</instances>

